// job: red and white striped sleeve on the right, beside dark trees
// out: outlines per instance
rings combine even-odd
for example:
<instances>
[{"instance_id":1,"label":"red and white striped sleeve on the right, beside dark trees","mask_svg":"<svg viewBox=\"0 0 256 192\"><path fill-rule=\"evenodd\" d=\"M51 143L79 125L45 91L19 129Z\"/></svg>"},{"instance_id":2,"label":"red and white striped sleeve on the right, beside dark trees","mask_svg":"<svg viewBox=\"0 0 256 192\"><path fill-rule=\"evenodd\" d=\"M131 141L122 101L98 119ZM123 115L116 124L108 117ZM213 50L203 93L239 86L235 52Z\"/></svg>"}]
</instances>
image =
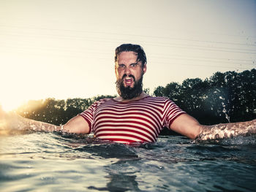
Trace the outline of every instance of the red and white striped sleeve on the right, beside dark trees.
<instances>
[{"instance_id":1,"label":"red and white striped sleeve on the right, beside dark trees","mask_svg":"<svg viewBox=\"0 0 256 192\"><path fill-rule=\"evenodd\" d=\"M184 114L183 110L179 108L173 101L170 99L167 99L165 101L165 107L164 107L164 126L167 128L170 128L170 125L173 123L173 120L178 118L179 115Z\"/></svg>"}]
</instances>

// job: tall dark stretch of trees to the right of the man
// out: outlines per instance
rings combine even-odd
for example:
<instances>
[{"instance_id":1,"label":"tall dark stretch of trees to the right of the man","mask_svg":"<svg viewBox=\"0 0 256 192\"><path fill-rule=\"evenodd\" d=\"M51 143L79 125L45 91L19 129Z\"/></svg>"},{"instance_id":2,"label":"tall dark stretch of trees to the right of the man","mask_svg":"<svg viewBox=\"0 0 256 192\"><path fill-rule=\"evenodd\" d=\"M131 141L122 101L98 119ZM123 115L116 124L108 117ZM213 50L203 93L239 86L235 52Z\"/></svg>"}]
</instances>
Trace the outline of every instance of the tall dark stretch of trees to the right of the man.
<instances>
[{"instance_id":1,"label":"tall dark stretch of trees to the right of the man","mask_svg":"<svg viewBox=\"0 0 256 192\"><path fill-rule=\"evenodd\" d=\"M200 123L252 120L256 118L256 69L217 72L206 80L187 79L178 84L159 86L155 96L165 96L195 117Z\"/></svg>"}]
</instances>

